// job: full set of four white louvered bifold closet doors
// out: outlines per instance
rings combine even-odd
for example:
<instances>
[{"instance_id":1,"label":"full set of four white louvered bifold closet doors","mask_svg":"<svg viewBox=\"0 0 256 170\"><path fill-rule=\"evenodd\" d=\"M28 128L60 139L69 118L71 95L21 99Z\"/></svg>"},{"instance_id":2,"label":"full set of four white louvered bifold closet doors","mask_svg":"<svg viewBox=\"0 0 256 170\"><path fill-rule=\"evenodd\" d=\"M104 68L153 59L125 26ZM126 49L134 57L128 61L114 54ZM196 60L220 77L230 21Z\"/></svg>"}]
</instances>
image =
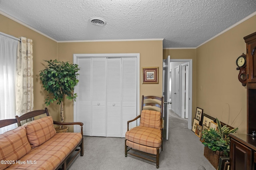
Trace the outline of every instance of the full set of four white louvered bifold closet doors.
<instances>
[{"instance_id":1,"label":"full set of four white louvered bifold closet doors","mask_svg":"<svg viewBox=\"0 0 256 170\"><path fill-rule=\"evenodd\" d=\"M137 115L137 58L81 57L77 62L77 119L84 123L84 135L125 137L127 121ZM130 123L135 126L136 121Z\"/></svg>"}]
</instances>

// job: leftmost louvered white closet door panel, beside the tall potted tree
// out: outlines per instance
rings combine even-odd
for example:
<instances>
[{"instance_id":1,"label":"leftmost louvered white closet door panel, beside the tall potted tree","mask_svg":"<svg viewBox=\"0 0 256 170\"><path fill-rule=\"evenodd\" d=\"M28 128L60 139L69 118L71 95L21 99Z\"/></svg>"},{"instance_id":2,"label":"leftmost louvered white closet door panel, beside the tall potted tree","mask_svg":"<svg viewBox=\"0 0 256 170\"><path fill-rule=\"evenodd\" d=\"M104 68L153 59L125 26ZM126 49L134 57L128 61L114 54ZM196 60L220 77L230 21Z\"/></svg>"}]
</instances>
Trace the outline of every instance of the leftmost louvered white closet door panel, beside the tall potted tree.
<instances>
[{"instance_id":1,"label":"leftmost louvered white closet door panel, beside the tall potted tree","mask_svg":"<svg viewBox=\"0 0 256 170\"><path fill-rule=\"evenodd\" d=\"M78 121L84 123L83 133L86 136L91 135L91 59L88 58L78 58L79 65L79 75L78 75L78 84L77 84L77 94L76 99L77 104L77 116ZM78 132L81 129L78 128Z\"/></svg>"}]
</instances>

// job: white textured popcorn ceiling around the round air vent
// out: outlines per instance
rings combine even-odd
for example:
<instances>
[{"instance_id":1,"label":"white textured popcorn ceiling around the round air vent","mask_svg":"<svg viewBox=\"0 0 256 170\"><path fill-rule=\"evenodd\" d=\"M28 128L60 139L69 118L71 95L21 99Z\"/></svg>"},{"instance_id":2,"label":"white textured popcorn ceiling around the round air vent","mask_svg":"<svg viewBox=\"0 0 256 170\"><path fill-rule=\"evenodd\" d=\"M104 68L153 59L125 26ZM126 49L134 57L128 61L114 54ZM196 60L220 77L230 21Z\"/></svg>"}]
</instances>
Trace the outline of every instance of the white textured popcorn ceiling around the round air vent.
<instances>
[{"instance_id":1,"label":"white textured popcorn ceiling around the round air vent","mask_svg":"<svg viewBox=\"0 0 256 170\"><path fill-rule=\"evenodd\" d=\"M163 38L164 48L189 48L256 12L256 0L0 0L0 11L56 41Z\"/></svg>"}]
</instances>

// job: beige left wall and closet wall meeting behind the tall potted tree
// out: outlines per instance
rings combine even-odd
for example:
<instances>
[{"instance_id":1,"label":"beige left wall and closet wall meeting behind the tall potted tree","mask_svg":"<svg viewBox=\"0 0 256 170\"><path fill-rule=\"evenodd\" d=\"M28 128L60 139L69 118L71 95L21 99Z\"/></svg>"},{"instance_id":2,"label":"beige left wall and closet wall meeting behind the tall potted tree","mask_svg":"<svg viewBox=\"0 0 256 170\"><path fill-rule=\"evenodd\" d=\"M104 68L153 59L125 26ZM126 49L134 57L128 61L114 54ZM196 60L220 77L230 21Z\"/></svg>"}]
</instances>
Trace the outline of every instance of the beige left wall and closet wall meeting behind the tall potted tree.
<instances>
[{"instance_id":1,"label":"beige left wall and closet wall meeting behind the tall potted tree","mask_svg":"<svg viewBox=\"0 0 256 170\"><path fill-rule=\"evenodd\" d=\"M57 43L16 21L0 14L0 31L14 37L27 37L33 40L34 51L34 109L44 109L46 93L39 79L39 71L44 69L43 60L58 59L73 63L76 53L140 53L140 76L142 67L159 67L159 84L142 84L141 95L162 95L162 40L156 41L116 41L116 42L86 42ZM79 94L78 94L79 95ZM56 121L60 120L60 106L47 106ZM64 100L65 121L73 121L73 102ZM72 131L73 128L70 127Z\"/></svg>"}]
</instances>

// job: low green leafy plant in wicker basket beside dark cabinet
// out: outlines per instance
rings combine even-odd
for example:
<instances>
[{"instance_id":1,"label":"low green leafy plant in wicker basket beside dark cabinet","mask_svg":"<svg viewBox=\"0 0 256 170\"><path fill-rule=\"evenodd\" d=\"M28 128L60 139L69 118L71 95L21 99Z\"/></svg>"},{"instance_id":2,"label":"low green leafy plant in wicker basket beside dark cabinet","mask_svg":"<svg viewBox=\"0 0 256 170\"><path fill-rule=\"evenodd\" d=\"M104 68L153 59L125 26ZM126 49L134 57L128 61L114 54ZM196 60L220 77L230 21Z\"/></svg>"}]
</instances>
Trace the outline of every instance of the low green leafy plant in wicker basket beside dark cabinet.
<instances>
[{"instance_id":1,"label":"low green leafy plant in wicker basket beside dark cabinet","mask_svg":"<svg viewBox=\"0 0 256 170\"><path fill-rule=\"evenodd\" d=\"M230 129L227 125L222 126L216 119L217 128L202 131L204 144L204 156L217 169L220 156L229 156L230 137L229 133L235 133L238 128Z\"/></svg>"}]
</instances>

